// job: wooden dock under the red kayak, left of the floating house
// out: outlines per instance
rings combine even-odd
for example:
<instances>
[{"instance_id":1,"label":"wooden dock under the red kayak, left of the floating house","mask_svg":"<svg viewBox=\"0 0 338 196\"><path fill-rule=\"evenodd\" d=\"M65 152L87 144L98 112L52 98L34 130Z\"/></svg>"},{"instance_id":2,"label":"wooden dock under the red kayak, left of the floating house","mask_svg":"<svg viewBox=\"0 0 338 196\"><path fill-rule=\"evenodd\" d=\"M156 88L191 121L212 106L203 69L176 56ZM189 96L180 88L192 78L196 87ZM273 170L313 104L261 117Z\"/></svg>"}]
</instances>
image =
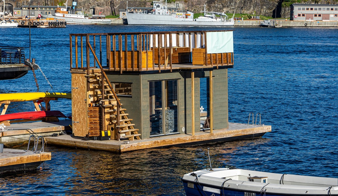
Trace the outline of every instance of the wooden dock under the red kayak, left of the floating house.
<instances>
[{"instance_id":1,"label":"wooden dock under the red kayak, left of the floating house","mask_svg":"<svg viewBox=\"0 0 338 196\"><path fill-rule=\"evenodd\" d=\"M0 131L0 143L6 146L27 143L31 135L50 136L53 133L60 134L65 130L71 130L71 120L60 120L59 122L27 122L6 126Z\"/></svg>"}]
</instances>

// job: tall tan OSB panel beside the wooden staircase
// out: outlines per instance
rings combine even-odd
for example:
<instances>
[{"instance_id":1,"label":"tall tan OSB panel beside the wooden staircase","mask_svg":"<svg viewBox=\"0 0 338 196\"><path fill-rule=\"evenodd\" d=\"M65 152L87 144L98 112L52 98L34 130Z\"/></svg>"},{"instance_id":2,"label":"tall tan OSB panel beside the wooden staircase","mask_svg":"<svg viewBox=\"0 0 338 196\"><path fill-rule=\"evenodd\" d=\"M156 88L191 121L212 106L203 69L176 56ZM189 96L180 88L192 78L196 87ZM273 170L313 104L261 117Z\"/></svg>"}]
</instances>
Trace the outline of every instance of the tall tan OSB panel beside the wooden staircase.
<instances>
[{"instance_id":1,"label":"tall tan OSB panel beside the wooden staircase","mask_svg":"<svg viewBox=\"0 0 338 196\"><path fill-rule=\"evenodd\" d=\"M78 137L88 134L86 84L85 74L72 74L72 128L73 135Z\"/></svg>"}]
</instances>

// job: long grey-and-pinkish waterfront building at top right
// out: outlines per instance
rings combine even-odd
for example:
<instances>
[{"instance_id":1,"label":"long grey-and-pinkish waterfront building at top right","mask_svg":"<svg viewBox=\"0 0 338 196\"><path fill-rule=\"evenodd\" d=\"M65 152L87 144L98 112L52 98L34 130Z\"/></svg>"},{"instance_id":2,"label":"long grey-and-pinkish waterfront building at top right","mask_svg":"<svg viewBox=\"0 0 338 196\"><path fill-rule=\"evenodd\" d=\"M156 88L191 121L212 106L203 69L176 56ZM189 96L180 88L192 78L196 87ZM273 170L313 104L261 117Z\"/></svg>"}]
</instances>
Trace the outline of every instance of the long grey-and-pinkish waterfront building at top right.
<instances>
[{"instance_id":1,"label":"long grey-and-pinkish waterfront building at top right","mask_svg":"<svg viewBox=\"0 0 338 196\"><path fill-rule=\"evenodd\" d=\"M291 4L290 20L338 21L338 5Z\"/></svg>"}]
</instances>

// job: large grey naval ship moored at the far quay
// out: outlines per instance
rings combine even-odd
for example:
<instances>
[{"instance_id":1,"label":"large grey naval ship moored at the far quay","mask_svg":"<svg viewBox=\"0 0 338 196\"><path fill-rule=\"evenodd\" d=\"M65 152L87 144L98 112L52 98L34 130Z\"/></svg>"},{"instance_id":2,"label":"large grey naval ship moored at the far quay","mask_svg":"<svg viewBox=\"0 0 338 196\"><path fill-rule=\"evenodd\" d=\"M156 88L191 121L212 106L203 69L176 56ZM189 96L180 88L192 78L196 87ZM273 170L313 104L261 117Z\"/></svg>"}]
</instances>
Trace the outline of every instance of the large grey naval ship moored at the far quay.
<instances>
[{"instance_id":1,"label":"large grey naval ship moored at the far quay","mask_svg":"<svg viewBox=\"0 0 338 196\"><path fill-rule=\"evenodd\" d=\"M153 1L153 9L145 11L129 12L126 17L128 25L180 25L180 26L234 26L234 16L228 18L223 12L205 11L204 15L194 19L194 13L191 11L175 10L169 11L166 4L162 1ZM216 18L219 15L219 18Z\"/></svg>"}]
</instances>

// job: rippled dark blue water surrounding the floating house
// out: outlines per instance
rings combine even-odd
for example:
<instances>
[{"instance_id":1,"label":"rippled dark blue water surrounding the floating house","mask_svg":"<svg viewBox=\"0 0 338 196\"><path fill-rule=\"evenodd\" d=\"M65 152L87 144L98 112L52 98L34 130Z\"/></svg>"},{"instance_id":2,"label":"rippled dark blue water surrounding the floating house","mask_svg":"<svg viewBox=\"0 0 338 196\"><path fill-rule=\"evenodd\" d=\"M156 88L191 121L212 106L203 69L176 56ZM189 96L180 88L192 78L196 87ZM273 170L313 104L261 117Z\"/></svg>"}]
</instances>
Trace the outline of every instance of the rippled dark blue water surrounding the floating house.
<instances>
[{"instance_id":1,"label":"rippled dark blue water surrounding the floating house","mask_svg":"<svg viewBox=\"0 0 338 196\"><path fill-rule=\"evenodd\" d=\"M31 29L31 56L40 92L71 92L69 33L223 28L87 26ZM262 114L272 132L261 139L210 145L213 167L338 177L338 29L226 28L234 31L235 66L229 69L229 121ZM0 46L29 46L27 28L0 28ZM26 50L28 56L28 49ZM0 81L0 93L34 92L32 73ZM71 112L71 102L52 108ZM11 104L8 112L32 110ZM209 164L208 146L146 149L122 155L47 146L52 160L33 173L0 177L0 195L185 195L180 178ZM1 155L0 155L1 156Z\"/></svg>"}]
</instances>

